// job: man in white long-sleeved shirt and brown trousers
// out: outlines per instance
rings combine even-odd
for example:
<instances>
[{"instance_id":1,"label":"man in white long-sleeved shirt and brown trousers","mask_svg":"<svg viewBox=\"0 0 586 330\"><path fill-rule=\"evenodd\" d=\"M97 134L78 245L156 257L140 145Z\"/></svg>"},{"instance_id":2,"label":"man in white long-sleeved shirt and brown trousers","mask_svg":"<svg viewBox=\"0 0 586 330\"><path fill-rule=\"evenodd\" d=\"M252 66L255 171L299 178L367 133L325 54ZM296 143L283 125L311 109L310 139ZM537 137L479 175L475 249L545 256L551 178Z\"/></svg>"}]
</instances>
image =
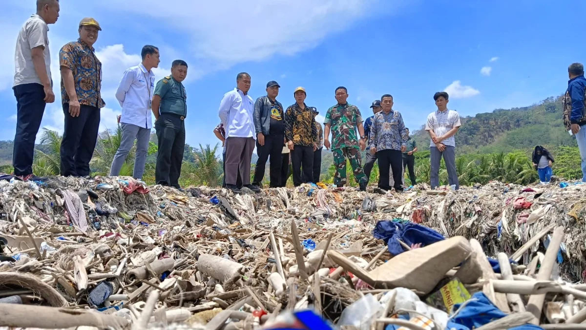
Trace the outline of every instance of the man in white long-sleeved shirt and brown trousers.
<instances>
[{"instance_id":1,"label":"man in white long-sleeved shirt and brown trousers","mask_svg":"<svg viewBox=\"0 0 586 330\"><path fill-rule=\"evenodd\" d=\"M250 161L255 144L254 101L248 95L250 75L241 72L236 76L236 88L224 94L218 115L226 130L226 188L240 193L236 180L240 171L243 187L260 192L250 184Z\"/></svg>"}]
</instances>

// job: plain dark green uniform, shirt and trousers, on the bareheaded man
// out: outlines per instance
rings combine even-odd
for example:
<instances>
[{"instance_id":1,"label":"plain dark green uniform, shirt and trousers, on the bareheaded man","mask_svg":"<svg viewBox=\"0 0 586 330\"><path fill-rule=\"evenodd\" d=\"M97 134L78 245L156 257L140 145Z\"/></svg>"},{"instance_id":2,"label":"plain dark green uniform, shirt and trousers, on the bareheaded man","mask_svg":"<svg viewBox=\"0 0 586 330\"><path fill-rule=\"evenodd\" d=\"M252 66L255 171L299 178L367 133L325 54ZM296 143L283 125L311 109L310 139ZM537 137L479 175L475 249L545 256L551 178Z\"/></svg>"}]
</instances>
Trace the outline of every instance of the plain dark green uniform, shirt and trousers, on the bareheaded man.
<instances>
[{"instance_id":1,"label":"plain dark green uniform, shirt and trousers, on the bareheaded man","mask_svg":"<svg viewBox=\"0 0 586 330\"><path fill-rule=\"evenodd\" d=\"M155 182L180 188L179 176L185 149L187 94L183 84L171 76L156 83L155 95L161 97L159 119L155 122L159 148L156 156Z\"/></svg>"}]
</instances>

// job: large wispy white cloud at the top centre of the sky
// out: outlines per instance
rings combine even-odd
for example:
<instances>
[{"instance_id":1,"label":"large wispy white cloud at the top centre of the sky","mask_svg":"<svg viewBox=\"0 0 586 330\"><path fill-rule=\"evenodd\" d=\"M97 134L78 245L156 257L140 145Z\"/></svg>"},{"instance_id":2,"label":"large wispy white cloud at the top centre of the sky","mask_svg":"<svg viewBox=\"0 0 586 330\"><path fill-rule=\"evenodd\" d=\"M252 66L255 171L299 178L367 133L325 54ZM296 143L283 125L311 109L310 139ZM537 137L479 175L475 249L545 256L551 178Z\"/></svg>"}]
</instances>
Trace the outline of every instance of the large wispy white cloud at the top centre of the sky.
<instances>
[{"instance_id":1,"label":"large wispy white cloud at the top centre of the sky","mask_svg":"<svg viewBox=\"0 0 586 330\"><path fill-rule=\"evenodd\" d=\"M343 31L370 15L377 3L376 0L171 2L103 0L87 6L94 6L98 11L127 11L155 18L159 22L151 21L152 25L189 36L185 43L192 47L190 51L195 58L225 67L312 48L325 36ZM340 15L344 16L341 21ZM268 31L268 38L259 38Z\"/></svg>"}]
</instances>

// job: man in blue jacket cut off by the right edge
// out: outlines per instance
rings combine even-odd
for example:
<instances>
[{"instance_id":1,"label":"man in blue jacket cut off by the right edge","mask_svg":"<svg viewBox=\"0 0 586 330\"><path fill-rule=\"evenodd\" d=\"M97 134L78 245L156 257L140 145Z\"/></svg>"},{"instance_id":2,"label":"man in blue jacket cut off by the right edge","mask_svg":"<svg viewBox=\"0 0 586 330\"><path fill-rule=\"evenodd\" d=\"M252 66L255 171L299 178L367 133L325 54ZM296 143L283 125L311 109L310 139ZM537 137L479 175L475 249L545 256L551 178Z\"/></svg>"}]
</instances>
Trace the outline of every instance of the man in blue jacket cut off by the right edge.
<instances>
[{"instance_id":1,"label":"man in blue jacket cut off by the right edge","mask_svg":"<svg viewBox=\"0 0 586 330\"><path fill-rule=\"evenodd\" d=\"M582 159L582 182L586 182L586 79L584 65L573 63L568 68L568 89L562 99L564 126L576 136Z\"/></svg>"}]
</instances>

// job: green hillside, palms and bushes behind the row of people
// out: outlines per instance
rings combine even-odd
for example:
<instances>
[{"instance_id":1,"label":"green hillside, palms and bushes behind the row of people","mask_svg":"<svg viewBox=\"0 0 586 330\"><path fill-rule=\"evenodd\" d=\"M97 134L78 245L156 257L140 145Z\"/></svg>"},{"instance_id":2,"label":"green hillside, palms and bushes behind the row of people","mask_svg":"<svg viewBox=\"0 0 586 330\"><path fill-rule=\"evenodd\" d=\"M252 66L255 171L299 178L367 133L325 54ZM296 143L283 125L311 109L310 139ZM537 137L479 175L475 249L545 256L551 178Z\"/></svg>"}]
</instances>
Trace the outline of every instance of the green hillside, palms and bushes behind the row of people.
<instances>
[{"instance_id":1,"label":"green hillside, palms and bushes behind the row of people","mask_svg":"<svg viewBox=\"0 0 586 330\"><path fill-rule=\"evenodd\" d=\"M42 138L36 146L33 170L37 175L50 176L59 173L59 149L62 137L50 130L40 132ZM418 183L430 180L429 136L423 129L413 132L419 152L415 154L415 174ZM97 142L91 169L94 175L107 175L116 150L120 146L122 132L120 127L111 132L103 132ZM461 185L486 184L490 180L506 183L529 184L538 179L530 159L534 146L541 144L551 151L556 162L554 175L567 180L580 179L580 152L574 137L564 130L561 120L560 97L549 97L539 104L514 109L497 109L492 113L480 113L474 117L462 117L462 128L456 134L456 167ZM12 167L13 143L0 141L0 171L10 173ZM183 156L182 186L218 186L222 183L222 158L217 156L221 146L202 146L193 148L185 145ZM122 176L131 176L134 167L133 148L122 167ZM253 155L253 163L257 157ZM152 134L147 156L147 168L143 179L154 183L156 160L156 136ZM364 153L363 153L364 162ZM356 187L350 164L347 163L348 183ZM333 183L332 152L322 151L322 176L324 183ZM251 175L254 174L254 164ZM268 186L268 166L264 184ZM370 175L370 184L379 179L379 168L375 164ZM292 185L289 178L288 185ZM447 184L448 176L442 160L440 182ZM410 183L406 179L406 183Z\"/></svg>"}]
</instances>

